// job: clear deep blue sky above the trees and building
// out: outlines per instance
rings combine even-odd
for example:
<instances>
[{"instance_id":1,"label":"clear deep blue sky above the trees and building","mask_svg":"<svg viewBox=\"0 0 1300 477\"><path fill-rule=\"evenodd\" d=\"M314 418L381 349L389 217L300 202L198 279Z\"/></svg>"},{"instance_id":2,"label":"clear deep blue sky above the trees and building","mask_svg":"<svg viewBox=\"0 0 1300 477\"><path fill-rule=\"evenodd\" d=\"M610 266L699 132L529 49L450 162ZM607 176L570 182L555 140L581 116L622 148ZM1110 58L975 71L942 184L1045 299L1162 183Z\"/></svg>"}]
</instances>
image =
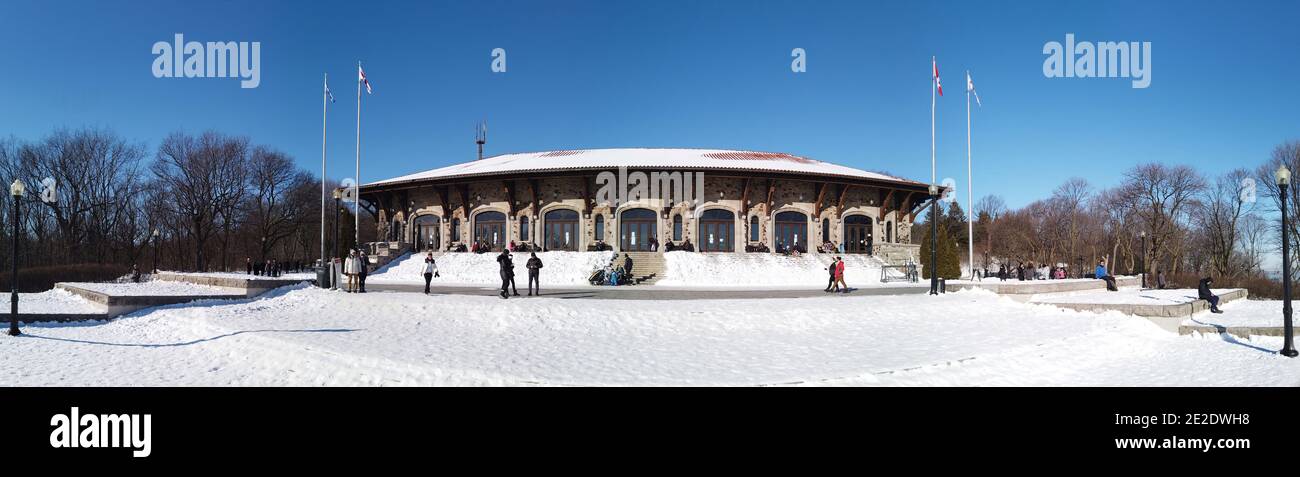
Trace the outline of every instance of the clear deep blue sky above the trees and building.
<instances>
[{"instance_id":1,"label":"clear deep blue sky above the trees and building","mask_svg":"<svg viewBox=\"0 0 1300 477\"><path fill-rule=\"evenodd\" d=\"M105 126L151 149L168 133L248 135L320 170L321 75L332 177L350 177L355 64L364 182L489 153L597 147L780 151L966 178L970 69L976 198L1013 207L1078 175L1114 185L1145 161L1206 174L1300 138L1300 4L1209 1L42 1L0 6L0 135ZM261 84L153 78L155 42L261 42ZM1045 78L1043 45L1152 42L1152 83ZM503 74L493 48L507 51ZM790 71L805 48L807 73ZM965 201L965 191L961 194Z\"/></svg>"}]
</instances>

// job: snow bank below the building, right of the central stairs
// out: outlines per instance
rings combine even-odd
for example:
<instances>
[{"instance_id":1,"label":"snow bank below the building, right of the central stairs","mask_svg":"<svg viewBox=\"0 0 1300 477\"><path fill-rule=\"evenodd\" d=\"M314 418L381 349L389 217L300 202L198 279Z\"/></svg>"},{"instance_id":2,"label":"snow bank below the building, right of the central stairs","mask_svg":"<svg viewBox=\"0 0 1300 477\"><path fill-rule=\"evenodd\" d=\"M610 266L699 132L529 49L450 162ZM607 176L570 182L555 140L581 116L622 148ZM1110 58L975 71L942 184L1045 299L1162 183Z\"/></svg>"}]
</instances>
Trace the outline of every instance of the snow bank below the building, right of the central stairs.
<instances>
[{"instance_id":1,"label":"snow bank below the building, right of the central stairs","mask_svg":"<svg viewBox=\"0 0 1300 477\"><path fill-rule=\"evenodd\" d=\"M667 252L662 286L824 286L833 255L696 253ZM844 281L849 286L880 285L879 260L863 255L844 257ZM901 276L901 274L900 274Z\"/></svg>"}]
</instances>

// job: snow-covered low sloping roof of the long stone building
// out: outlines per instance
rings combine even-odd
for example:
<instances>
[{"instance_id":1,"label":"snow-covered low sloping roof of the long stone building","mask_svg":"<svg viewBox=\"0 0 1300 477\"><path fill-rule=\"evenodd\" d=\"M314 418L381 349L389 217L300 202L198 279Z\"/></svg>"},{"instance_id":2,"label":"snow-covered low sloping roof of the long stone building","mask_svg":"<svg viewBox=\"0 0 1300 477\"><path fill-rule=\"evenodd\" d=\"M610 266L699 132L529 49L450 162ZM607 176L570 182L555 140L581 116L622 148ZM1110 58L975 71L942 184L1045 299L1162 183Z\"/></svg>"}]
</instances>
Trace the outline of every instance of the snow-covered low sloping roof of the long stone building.
<instances>
[{"instance_id":1,"label":"snow-covered low sloping roof of the long stone building","mask_svg":"<svg viewBox=\"0 0 1300 477\"><path fill-rule=\"evenodd\" d=\"M919 185L920 182L846 168L784 152L729 151L729 149L672 149L672 148L615 148L521 152L484 157L481 160L448 165L367 183L364 187L391 186L406 182L448 179L476 175L515 173L541 173L559 170L629 169L723 169L745 172L796 173L836 175L854 179L874 179Z\"/></svg>"}]
</instances>

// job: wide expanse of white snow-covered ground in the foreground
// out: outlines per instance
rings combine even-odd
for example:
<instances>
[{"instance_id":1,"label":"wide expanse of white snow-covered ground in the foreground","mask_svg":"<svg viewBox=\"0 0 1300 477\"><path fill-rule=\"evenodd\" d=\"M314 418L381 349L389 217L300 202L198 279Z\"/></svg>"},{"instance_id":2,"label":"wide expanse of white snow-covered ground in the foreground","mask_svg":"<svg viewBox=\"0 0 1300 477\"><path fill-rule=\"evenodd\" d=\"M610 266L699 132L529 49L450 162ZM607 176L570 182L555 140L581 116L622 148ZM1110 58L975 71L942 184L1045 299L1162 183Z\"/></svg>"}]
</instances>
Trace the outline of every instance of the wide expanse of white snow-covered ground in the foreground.
<instances>
[{"instance_id":1,"label":"wide expanse of white snow-covered ground in the foreground","mask_svg":"<svg viewBox=\"0 0 1300 477\"><path fill-rule=\"evenodd\" d=\"M0 385L1300 385L1277 338L1179 337L987 291L638 302L295 286L23 333L0 337Z\"/></svg>"}]
</instances>

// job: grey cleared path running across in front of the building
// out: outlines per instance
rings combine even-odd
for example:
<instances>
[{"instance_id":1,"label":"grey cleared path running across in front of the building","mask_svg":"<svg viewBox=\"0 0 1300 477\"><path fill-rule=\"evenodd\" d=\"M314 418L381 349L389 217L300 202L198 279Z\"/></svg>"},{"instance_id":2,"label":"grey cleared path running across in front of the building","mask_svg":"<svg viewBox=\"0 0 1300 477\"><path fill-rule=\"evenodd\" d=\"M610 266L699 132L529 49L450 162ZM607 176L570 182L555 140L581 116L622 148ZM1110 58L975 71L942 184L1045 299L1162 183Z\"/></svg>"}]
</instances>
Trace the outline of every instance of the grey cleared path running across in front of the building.
<instances>
[{"instance_id":1,"label":"grey cleared path running across in front of the building","mask_svg":"<svg viewBox=\"0 0 1300 477\"><path fill-rule=\"evenodd\" d=\"M367 283L365 290L374 291L402 291L402 292L424 292L424 285L415 283ZM481 295L481 296L495 296L500 289L491 286L433 286L429 289L432 292L438 295ZM889 287L870 287L870 289L852 289L849 291L850 296L871 296L871 295L915 295L930 292L928 283L919 283L915 286L889 286ZM547 298L590 298L601 300L719 300L719 299L758 299L758 298L812 298L812 296L829 296L831 294L823 292L822 289L811 290L774 290L774 289L758 289L758 290L690 290L690 289L659 289L655 286L593 286L593 287L578 287L578 289L543 289L542 296ZM511 296L515 298L515 296ZM519 298L529 298L526 289L520 289Z\"/></svg>"}]
</instances>

